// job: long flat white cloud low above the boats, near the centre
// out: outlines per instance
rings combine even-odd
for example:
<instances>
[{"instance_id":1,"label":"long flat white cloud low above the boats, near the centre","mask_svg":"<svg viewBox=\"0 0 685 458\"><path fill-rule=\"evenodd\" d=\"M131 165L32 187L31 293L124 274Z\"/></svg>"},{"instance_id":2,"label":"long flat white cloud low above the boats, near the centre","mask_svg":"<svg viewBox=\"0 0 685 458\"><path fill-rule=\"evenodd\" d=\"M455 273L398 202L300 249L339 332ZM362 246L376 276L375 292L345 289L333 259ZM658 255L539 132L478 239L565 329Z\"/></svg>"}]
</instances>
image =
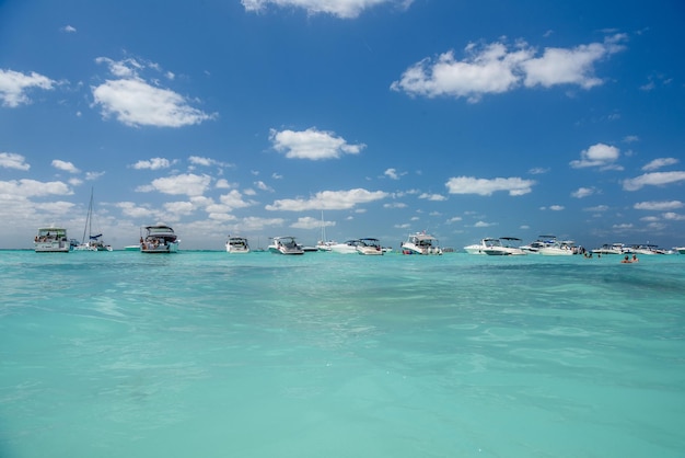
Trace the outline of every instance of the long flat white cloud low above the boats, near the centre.
<instances>
[{"instance_id":1,"label":"long flat white cloud low above the boats, near the centre","mask_svg":"<svg viewBox=\"0 0 685 458\"><path fill-rule=\"evenodd\" d=\"M344 210L353 208L358 204L380 201L387 196L388 194L382 191L372 192L362 188L349 191L322 191L321 193L316 193L310 199L278 199L275 201L274 204L267 205L266 209L286 211Z\"/></svg>"}]
</instances>

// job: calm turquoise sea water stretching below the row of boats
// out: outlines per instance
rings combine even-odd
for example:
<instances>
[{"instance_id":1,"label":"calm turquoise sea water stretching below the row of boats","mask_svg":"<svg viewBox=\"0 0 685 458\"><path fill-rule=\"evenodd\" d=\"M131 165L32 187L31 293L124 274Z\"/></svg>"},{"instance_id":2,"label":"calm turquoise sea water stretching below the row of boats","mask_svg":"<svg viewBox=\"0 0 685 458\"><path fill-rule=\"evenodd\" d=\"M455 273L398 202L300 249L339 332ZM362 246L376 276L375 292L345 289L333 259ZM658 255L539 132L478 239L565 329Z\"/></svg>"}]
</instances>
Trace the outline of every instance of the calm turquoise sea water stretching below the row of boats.
<instances>
[{"instance_id":1,"label":"calm turquoise sea water stretching below the row of boats","mask_svg":"<svg viewBox=\"0 0 685 458\"><path fill-rule=\"evenodd\" d=\"M0 457L676 457L685 256L0 251Z\"/></svg>"}]
</instances>

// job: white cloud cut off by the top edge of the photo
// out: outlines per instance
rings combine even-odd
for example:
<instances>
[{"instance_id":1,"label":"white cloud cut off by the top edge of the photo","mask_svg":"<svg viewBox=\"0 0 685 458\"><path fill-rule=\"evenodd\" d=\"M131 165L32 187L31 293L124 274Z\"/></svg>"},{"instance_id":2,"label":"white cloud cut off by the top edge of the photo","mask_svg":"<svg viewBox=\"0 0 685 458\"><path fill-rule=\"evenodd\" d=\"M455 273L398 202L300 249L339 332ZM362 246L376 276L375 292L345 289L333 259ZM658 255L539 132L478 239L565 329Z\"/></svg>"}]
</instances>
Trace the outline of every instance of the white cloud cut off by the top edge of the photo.
<instances>
[{"instance_id":1,"label":"white cloud cut off by the top edge of the photo","mask_svg":"<svg viewBox=\"0 0 685 458\"><path fill-rule=\"evenodd\" d=\"M245 11L262 12L269 4L280 8L302 8L310 15L330 14L340 19L355 19L364 10L391 3L399 8L408 8L414 0L241 0Z\"/></svg>"}]
</instances>

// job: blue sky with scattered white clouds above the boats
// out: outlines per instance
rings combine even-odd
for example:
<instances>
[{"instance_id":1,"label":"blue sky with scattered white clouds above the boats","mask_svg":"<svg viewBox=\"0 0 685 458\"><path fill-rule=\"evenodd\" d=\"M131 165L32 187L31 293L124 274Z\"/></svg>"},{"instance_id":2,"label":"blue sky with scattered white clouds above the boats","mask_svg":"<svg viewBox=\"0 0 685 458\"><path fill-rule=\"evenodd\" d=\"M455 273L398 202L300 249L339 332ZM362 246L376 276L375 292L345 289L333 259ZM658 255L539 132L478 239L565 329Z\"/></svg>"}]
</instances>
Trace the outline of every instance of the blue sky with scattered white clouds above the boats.
<instances>
[{"instance_id":1,"label":"blue sky with scattered white clouds above the boats","mask_svg":"<svg viewBox=\"0 0 685 458\"><path fill-rule=\"evenodd\" d=\"M0 248L685 245L680 0L0 0Z\"/></svg>"}]
</instances>

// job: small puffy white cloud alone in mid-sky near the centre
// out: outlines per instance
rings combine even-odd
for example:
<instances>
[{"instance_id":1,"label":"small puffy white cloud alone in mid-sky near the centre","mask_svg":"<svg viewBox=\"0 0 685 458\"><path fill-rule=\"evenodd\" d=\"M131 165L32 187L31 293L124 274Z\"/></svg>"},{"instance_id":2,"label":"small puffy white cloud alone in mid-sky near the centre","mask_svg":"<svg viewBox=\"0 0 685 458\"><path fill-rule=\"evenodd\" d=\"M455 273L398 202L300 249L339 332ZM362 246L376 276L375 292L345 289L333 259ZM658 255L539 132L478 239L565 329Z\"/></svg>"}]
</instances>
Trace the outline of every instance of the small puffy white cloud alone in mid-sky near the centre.
<instances>
[{"instance_id":1,"label":"small puffy white cloud alone in mid-sky near the centre","mask_svg":"<svg viewBox=\"0 0 685 458\"><path fill-rule=\"evenodd\" d=\"M338 159L342 154L358 154L367 146L349 145L344 138L336 137L335 133L317 130L310 127L306 130L281 130L271 129L269 139L274 149L286 152L290 159Z\"/></svg>"}]
</instances>

